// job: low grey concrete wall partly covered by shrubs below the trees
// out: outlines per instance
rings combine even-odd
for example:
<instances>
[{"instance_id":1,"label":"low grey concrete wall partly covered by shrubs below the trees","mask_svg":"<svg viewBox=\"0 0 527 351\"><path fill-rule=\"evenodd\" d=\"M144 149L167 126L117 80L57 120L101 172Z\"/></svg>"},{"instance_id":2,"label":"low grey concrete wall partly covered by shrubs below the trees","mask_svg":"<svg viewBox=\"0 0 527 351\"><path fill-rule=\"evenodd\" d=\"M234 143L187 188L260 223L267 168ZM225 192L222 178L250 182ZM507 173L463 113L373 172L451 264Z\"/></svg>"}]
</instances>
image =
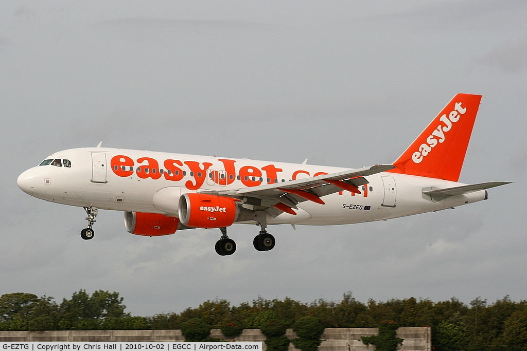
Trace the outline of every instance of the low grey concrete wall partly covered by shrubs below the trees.
<instances>
[{"instance_id":1,"label":"low grey concrete wall partly covered by shrubs below the trees","mask_svg":"<svg viewBox=\"0 0 527 351\"><path fill-rule=\"evenodd\" d=\"M220 329L212 329L210 336L225 339ZM320 337L324 341L319 351L371 351L374 346L366 346L361 336L377 335L377 328L328 328ZM286 336L296 338L295 332L287 329ZM431 351L430 328L399 328L397 336L404 339L399 350ZM47 332L0 332L0 342L166 342L184 341L181 330L55 330ZM260 329L245 329L237 341L265 340ZM264 344L265 349L265 344ZM297 349L290 344L289 351Z\"/></svg>"}]
</instances>

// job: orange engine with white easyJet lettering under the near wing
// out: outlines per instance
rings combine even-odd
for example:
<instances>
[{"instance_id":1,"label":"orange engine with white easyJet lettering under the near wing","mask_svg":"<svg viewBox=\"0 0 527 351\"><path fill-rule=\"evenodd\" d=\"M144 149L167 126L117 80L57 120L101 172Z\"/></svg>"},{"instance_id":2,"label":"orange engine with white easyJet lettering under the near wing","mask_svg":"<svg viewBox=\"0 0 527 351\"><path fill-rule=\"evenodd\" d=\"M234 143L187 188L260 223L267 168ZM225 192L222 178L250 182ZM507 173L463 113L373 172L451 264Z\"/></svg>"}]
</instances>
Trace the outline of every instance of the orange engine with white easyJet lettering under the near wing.
<instances>
[{"instance_id":1,"label":"orange engine with white easyJet lettering under the near wing","mask_svg":"<svg viewBox=\"0 0 527 351\"><path fill-rule=\"evenodd\" d=\"M209 194L187 193L179 198L179 220L195 228L228 227L237 220L249 220L251 211L236 204L238 200ZM243 213L243 216L240 216ZM243 217L243 218L241 218Z\"/></svg>"}]
</instances>

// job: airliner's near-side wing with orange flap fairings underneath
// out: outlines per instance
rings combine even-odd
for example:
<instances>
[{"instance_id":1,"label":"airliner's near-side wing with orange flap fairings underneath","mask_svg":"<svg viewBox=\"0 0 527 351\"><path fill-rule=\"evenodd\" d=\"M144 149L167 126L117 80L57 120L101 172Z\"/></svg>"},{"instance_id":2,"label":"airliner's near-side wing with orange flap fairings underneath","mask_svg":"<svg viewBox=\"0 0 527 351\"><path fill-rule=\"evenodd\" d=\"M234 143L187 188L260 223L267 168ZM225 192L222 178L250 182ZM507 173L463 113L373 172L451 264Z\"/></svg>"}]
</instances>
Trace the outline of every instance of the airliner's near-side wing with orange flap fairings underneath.
<instances>
[{"instance_id":1,"label":"airliner's near-side wing with orange flap fairings underneath","mask_svg":"<svg viewBox=\"0 0 527 351\"><path fill-rule=\"evenodd\" d=\"M375 165L288 182L204 193L243 199L244 206L251 209L265 210L270 207L278 209L278 212L269 212L271 215L278 215L282 212L296 214L292 209L297 208L296 205L300 202L310 200L324 204L321 197L342 190L360 194L358 187L368 184L368 180L364 177L393 168L395 168L393 165Z\"/></svg>"}]
</instances>

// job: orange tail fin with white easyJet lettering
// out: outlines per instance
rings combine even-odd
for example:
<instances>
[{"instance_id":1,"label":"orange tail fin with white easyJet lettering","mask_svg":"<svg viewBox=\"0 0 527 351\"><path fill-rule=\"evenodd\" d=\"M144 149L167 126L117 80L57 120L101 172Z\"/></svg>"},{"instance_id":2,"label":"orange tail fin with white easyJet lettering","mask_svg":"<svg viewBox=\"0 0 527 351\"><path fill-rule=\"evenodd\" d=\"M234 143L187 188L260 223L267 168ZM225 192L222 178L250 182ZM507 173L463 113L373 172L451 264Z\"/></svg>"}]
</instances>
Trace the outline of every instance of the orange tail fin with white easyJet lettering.
<instances>
[{"instance_id":1,"label":"orange tail fin with white easyJet lettering","mask_svg":"<svg viewBox=\"0 0 527 351\"><path fill-rule=\"evenodd\" d=\"M391 172L457 182L481 95L457 94L393 163Z\"/></svg>"}]
</instances>

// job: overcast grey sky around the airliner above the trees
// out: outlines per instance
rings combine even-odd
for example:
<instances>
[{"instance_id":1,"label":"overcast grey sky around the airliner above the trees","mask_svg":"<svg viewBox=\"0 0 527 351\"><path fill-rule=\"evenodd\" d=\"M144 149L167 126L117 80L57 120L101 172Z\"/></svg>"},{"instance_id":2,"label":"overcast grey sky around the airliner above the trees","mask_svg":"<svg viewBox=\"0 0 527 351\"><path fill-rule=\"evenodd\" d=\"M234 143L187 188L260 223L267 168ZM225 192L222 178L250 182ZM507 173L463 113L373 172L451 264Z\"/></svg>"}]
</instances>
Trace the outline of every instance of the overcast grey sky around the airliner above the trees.
<instances>
[{"instance_id":1,"label":"overcast grey sky around the airliner above the trees","mask_svg":"<svg viewBox=\"0 0 527 351\"><path fill-rule=\"evenodd\" d=\"M523 1L0 3L0 294L115 290L134 315L225 298L527 296ZM104 146L357 168L401 154L456 93L482 94L461 181L490 199L386 222L149 238L27 196L47 155Z\"/></svg>"}]
</instances>

